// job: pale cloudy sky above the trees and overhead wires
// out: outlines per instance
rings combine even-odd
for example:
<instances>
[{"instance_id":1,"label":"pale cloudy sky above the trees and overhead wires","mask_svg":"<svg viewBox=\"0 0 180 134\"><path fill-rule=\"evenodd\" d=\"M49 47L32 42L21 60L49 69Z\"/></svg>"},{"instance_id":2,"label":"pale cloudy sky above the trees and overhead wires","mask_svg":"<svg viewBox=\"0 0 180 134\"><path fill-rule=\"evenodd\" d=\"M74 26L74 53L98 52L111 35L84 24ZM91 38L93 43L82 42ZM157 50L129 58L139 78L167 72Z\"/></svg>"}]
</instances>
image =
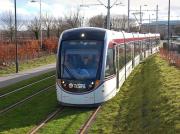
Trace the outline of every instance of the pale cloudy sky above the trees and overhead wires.
<instances>
[{"instance_id":1,"label":"pale cloudy sky above the trees and overhead wires","mask_svg":"<svg viewBox=\"0 0 180 134\"><path fill-rule=\"evenodd\" d=\"M107 5L108 0L99 0L104 5ZM111 5L116 0L110 0ZM111 14L116 15L127 15L127 5L128 0L117 0L118 3L122 3L118 6L113 6L111 8ZM133 15L133 10L139 10L140 5L142 10L155 10L156 5L159 6L159 20L167 20L168 14L168 1L169 0L130 0L130 17L135 18ZM31 2L31 0L16 0L17 3L17 13L25 18L33 18L34 16L39 16L40 12L40 0L36 2ZM70 12L77 11L80 9L81 15L85 18L90 18L98 14L107 14L107 9L102 6L89 6L89 7L80 7L80 5L89 5L89 4L99 4L98 0L41 0L41 9L42 14L48 13L54 17L63 17L68 15ZM146 6L144 6L146 5ZM14 12L14 0L0 0L0 14L11 10ZM144 21L146 19L151 20L156 18L156 12L147 12L143 13ZM138 15L136 15L139 18ZM180 20L180 0L171 0L171 20ZM146 20L147 21L147 20Z\"/></svg>"}]
</instances>

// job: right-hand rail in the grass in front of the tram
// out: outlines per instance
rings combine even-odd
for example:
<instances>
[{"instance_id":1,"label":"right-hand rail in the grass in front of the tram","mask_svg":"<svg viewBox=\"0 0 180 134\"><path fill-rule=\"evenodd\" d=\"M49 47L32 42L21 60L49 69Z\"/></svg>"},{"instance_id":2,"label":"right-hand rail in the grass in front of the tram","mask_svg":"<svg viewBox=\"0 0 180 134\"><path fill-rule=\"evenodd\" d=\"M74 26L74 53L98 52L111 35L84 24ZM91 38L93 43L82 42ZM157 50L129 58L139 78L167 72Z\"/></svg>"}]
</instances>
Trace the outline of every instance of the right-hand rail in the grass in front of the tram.
<instances>
[{"instance_id":1,"label":"right-hand rail in the grass in front of the tram","mask_svg":"<svg viewBox=\"0 0 180 134\"><path fill-rule=\"evenodd\" d=\"M100 110L101 106L97 107L97 109L91 114L91 116L88 118L88 120L85 122L85 124L82 126L82 128L79 131L79 134L85 134L87 133L88 128L94 121L98 111Z\"/></svg>"}]
</instances>

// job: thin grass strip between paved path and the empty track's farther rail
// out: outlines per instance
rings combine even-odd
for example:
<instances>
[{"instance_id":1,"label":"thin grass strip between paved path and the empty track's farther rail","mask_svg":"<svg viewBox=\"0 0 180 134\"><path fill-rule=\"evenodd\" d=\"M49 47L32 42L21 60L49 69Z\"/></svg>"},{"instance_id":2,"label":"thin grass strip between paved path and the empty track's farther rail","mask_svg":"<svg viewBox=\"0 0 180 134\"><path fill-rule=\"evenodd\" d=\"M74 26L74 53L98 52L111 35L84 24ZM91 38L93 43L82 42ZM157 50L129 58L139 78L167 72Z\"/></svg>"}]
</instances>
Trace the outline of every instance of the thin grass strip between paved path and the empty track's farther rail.
<instances>
[{"instance_id":1,"label":"thin grass strip between paved path and the empty track's farther rail","mask_svg":"<svg viewBox=\"0 0 180 134\"><path fill-rule=\"evenodd\" d=\"M42 75L38 75L36 77L29 78L27 80L17 82L15 84L9 85L7 87L0 88L0 95L8 93L10 91L13 91L13 90L15 90L17 88L21 88L23 86L26 86L27 84L31 84L31 83L36 82L38 80L44 79L46 77L52 76L54 74L55 74L55 71L51 71L51 72L48 72L48 73L45 73L45 74L42 74Z\"/></svg>"}]
</instances>

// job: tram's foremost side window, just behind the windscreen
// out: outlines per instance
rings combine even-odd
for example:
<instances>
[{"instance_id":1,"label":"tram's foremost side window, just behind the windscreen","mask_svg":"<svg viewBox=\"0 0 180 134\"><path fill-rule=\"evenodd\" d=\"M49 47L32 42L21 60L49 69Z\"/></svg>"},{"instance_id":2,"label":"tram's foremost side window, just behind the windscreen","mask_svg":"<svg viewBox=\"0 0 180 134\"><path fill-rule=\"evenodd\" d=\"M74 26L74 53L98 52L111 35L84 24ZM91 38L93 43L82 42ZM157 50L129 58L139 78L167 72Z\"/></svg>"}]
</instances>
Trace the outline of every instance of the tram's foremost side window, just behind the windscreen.
<instances>
[{"instance_id":1,"label":"tram's foremost side window, just behind the windscreen","mask_svg":"<svg viewBox=\"0 0 180 134\"><path fill-rule=\"evenodd\" d=\"M113 49L108 49L107 59L106 59L106 68L105 68L105 77L115 74L114 67L114 51Z\"/></svg>"}]
</instances>

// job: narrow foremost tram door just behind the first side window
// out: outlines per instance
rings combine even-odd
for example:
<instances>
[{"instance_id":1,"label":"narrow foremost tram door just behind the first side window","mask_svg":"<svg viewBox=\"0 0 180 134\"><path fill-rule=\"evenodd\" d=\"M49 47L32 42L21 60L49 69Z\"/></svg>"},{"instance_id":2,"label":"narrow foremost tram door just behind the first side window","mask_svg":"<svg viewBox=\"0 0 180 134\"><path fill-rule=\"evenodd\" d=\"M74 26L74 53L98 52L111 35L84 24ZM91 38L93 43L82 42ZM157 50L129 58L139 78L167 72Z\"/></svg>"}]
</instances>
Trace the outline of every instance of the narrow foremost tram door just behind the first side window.
<instances>
[{"instance_id":1,"label":"narrow foremost tram door just behind the first side window","mask_svg":"<svg viewBox=\"0 0 180 134\"><path fill-rule=\"evenodd\" d=\"M116 68L116 89L119 89L119 49L118 45L115 46L115 68Z\"/></svg>"}]
</instances>

